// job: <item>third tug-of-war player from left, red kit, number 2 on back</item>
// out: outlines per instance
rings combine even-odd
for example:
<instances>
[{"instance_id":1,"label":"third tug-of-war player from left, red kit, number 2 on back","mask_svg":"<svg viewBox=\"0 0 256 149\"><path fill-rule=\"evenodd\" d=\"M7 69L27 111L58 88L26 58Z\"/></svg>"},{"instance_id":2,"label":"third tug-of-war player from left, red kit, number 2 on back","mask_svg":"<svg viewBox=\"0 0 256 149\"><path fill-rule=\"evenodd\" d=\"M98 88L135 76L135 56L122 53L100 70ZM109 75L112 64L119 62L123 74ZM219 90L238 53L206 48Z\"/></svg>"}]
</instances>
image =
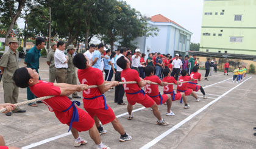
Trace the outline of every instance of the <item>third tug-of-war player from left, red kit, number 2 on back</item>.
<instances>
[{"instance_id":1,"label":"third tug-of-war player from left, red kit, number 2 on back","mask_svg":"<svg viewBox=\"0 0 256 149\"><path fill-rule=\"evenodd\" d=\"M146 108L151 107L153 114L157 117L157 125L169 125L168 122L165 122L165 119L162 119L161 114L158 110L158 106L149 95L145 94L142 87L149 85L151 81L145 81L138 75L138 72L130 69L130 61L126 57L120 57L116 64L123 69L121 72L122 81L137 81L137 84L124 84L124 91L126 92L126 97L128 101L127 111L129 114L128 119L132 120L132 109L135 103L140 103Z\"/></svg>"}]
</instances>

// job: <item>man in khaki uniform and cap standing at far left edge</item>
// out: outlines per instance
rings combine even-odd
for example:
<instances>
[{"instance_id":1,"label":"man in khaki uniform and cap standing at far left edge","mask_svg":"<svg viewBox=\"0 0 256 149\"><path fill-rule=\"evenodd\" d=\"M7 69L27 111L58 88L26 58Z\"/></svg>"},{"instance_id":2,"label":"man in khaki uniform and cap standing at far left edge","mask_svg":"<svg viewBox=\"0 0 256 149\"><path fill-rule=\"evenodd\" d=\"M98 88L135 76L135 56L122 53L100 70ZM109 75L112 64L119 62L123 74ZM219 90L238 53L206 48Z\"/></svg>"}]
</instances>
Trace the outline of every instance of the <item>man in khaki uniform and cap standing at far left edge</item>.
<instances>
[{"instance_id":1,"label":"man in khaki uniform and cap standing at far left edge","mask_svg":"<svg viewBox=\"0 0 256 149\"><path fill-rule=\"evenodd\" d=\"M2 74L2 86L4 88L4 102L17 103L19 96L19 88L12 80L12 76L16 69L20 67L18 40L14 37L9 38L10 49L2 55L0 59L0 69ZM26 110L16 107L13 113L25 113ZM5 113L6 116L12 116L12 113Z\"/></svg>"}]
</instances>

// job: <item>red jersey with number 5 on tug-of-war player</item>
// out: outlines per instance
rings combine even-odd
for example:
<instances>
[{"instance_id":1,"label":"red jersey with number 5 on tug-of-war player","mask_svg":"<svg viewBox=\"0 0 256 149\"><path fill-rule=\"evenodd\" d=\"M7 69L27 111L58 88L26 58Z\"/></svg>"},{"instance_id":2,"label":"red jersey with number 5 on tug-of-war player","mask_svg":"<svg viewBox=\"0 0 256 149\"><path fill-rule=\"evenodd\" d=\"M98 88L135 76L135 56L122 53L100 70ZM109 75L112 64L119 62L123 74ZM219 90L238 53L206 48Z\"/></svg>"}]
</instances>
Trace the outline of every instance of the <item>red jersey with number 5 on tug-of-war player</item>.
<instances>
[{"instance_id":1,"label":"red jersey with number 5 on tug-of-war player","mask_svg":"<svg viewBox=\"0 0 256 149\"><path fill-rule=\"evenodd\" d=\"M160 83L162 82L157 75L152 75L149 77L144 78L144 80L149 80L155 83L158 83L160 85ZM146 94L148 94L149 96L156 96L159 95L159 90L158 90L158 85L145 85L145 92Z\"/></svg>"}]
</instances>

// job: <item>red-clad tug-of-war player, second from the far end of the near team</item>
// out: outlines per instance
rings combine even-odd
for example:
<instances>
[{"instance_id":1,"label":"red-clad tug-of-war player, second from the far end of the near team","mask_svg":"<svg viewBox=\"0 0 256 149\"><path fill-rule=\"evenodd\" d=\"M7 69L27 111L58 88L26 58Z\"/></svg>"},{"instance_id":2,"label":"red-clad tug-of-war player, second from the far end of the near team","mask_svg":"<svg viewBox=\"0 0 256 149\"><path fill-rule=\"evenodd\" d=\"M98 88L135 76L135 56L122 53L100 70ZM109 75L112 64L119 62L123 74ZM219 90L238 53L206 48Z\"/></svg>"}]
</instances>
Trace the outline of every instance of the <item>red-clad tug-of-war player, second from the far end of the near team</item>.
<instances>
[{"instance_id":1,"label":"red-clad tug-of-war player, second from the far end of the near team","mask_svg":"<svg viewBox=\"0 0 256 149\"><path fill-rule=\"evenodd\" d=\"M190 76L187 75L188 74L187 71L182 70L182 72L180 74L182 75L179 78L180 82L194 81L194 78L191 78ZM177 92L184 92L186 96L191 94L196 99L196 102L200 102L200 99L199 99L199 97L197 97L196 93L192 89L188 88L188 82L181 83L180 85L177 85Z\"/></svg>"}]
</instances>

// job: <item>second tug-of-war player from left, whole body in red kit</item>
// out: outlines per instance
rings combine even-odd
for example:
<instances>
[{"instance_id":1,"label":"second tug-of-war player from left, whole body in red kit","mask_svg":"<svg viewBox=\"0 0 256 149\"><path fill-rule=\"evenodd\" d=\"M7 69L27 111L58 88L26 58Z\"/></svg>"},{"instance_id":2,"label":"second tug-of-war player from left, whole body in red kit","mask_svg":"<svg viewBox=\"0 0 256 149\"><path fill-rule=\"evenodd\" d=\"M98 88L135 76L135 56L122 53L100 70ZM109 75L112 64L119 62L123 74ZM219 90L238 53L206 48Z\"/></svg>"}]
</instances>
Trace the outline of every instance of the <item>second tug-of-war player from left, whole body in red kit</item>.
<instances>
[{"instance_id":1,"label":"second tug-of-war player from left, whole body in red kit","mask_svg":"<svg viewBox=\"0 0 256 149\"><path fill-rule=\"evenodd\" d=\"M104 81L101 70L92 68L88 59L83 54L76 54L73 58L73 64L79 69L77 71L77 77L81 84L98 85L98 88L90 88L83 91L83 102L85 110L94 118L99 133L106 133L100 125L99 120L102 125L111 122L115 130L121 135L119 138L121 142L132 140L132 137L124 131L112 108L107 105L104 96L104 92L107 92L108 89L119 85L118 81ZM105 85L105 83L110 83L110 85Z\"/></svg>"}]
</instances>

